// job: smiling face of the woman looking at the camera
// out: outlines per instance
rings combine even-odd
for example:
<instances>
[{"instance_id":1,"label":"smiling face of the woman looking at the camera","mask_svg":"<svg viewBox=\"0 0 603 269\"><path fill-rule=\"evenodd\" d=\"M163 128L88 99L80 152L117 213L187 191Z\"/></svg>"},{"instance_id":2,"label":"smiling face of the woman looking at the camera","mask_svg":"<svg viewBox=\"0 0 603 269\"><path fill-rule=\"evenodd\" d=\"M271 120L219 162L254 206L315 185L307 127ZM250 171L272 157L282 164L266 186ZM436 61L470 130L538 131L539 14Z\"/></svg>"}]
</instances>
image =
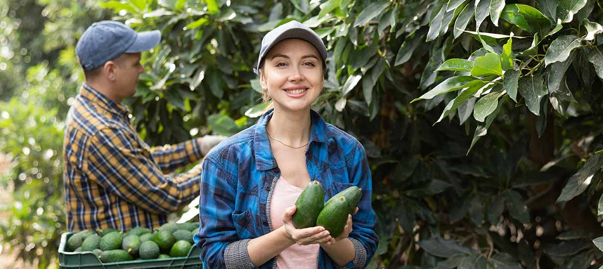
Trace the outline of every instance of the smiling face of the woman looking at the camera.
<instances>
[{"instance_id":1,"label":"smiling face of the woman looking at the camera","mask_svg":"<svg viewBox=\"0 0 603 269\"><path fill-rule=\"evenodd\" d=\"M265 57L260 75L262 88L282 110L309 109L323 88L320 54L301 39L286 39L275 45Z\"/></svg>"}]
</instances>

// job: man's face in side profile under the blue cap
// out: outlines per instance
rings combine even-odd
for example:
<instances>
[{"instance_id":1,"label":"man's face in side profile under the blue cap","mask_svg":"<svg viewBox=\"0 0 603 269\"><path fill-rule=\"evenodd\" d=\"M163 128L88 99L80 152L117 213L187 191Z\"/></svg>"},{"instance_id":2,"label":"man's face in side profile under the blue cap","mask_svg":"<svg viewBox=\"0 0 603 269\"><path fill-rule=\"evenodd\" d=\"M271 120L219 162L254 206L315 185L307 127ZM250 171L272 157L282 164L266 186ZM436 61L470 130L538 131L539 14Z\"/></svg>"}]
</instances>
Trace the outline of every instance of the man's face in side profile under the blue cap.
<instances>
[{"instance_id":1,"label":"man's face in side profile under the blue cap","mask_svg":"<svg viewBox=\"0 0 603 269\"><path fill-rule=\"evenodd\" d=\"M120 97L126 98L136 93L138 76L145 72L140 64L140 53L125 53L116 59L115 90Z\"/></svg>"}]
</instances>

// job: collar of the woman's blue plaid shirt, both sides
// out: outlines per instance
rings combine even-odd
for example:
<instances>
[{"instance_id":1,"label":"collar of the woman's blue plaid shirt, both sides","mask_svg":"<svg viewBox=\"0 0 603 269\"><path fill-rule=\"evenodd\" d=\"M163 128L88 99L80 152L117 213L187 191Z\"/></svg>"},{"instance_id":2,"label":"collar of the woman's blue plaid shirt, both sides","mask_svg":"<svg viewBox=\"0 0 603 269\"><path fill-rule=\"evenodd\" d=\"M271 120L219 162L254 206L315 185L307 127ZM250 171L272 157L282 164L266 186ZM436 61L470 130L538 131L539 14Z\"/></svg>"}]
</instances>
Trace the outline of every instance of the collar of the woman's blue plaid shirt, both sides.
<instances>
[{"instance_id":1,"label":"collar of the woman's blue plaid shirt, both sides","mask_svg":"<svg viewBox=\"0 0 603 269\"><path fill-rule=\"evenodd\" d=\"M256 157L256 165L257 170L264 171L270 170L274 167L277 167L276 159L272 155L272 150L270 149L270 140L268 140L268 134L266 132L266 125L268 120L272 117L274 113L274 109L269 110L267 113L264 113L262 117L257 121L256 132L254 134L253 139L253 147ZM314 110L310 110L310 141L317 143L324 143L329 138L332 137L329 128L327 128L327 123L324 122L323 118Z\"/></svg>"}]
</instances>

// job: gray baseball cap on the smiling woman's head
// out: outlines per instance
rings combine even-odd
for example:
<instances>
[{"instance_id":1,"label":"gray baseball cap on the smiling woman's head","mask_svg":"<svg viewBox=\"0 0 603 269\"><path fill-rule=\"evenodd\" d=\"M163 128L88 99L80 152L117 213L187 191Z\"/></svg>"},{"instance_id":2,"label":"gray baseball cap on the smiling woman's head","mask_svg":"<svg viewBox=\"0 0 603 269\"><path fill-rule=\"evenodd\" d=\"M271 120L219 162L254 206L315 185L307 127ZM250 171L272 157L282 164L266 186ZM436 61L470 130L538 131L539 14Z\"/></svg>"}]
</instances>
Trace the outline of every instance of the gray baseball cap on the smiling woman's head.
<instances>
[{"instance_id":1,"label":"gray baseball cap on the smiling woman's head","mask_svg":"<svg viewBox=\"0 0 603 269\"><path fill-rule=\"evenodd\" d=\"M262 49L260 49L260 56L257 58L257 67L253 69L253 72L256 73L256 75L259 75L258 69L260 69L260 64L268 54L268 51L270 51L274 45L285 39L306 40L317 49L320 53L320 57L323 57L323 61L327 58L327 48L324 46L323 40L318 34L297 20L291 20L291 22L274 28L264 36L264 39L262 39Z\"/></svg>"}]
</instances>

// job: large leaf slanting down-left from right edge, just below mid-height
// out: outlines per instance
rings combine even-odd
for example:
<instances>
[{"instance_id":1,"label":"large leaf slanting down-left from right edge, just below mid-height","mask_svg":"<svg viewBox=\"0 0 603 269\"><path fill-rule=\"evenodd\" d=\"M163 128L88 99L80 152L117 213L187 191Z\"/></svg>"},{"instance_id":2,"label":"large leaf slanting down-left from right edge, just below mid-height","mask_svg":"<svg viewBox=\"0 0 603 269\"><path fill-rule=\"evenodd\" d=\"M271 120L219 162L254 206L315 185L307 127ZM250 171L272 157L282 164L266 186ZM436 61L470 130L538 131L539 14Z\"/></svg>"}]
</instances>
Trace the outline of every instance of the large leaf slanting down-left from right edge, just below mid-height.
<instances>
[{"instance_id":1,"label":"large leaf slanting down-left from right edge, just below mid-height","mask_svg":"<svg viewBox=\"0 0 603 269\"><path fill-rule=\"evenodd\" d=\"M589 187L595 173L601 170L601 165L603 165L603 155L590 156L580 170L567 180L567 184L561 190L561 195L557 198L557 203L572 200L573 197L584 192Z\"/></svg>"}]
</instances>

